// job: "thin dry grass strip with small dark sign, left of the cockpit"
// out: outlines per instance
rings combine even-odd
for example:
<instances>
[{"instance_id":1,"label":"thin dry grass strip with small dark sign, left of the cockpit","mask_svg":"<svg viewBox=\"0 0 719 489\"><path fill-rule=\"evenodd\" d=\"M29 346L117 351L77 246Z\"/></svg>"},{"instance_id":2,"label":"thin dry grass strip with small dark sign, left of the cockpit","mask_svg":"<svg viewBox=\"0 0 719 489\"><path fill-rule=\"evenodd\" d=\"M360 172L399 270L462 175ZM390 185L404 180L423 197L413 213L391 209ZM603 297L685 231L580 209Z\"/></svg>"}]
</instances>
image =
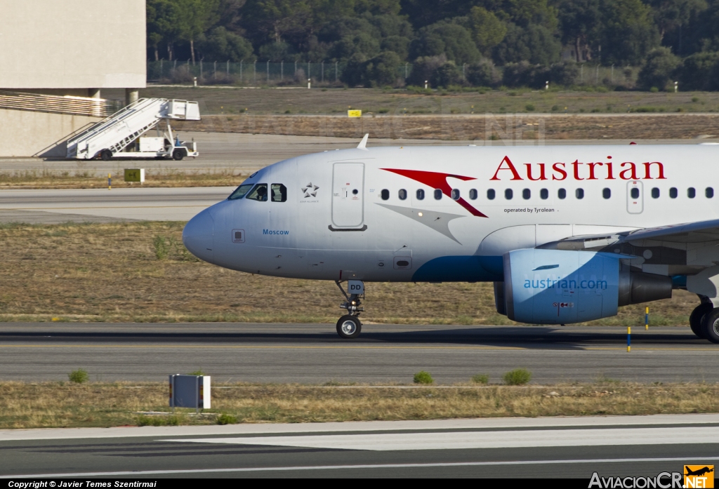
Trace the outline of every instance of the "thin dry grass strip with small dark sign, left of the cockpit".
<instances>
[{"instance_id":1,"label":"thin dry grass strip with small dark sign, left of the cockpit","mask_svg":"<svg viewBox=\"0 0 719 489\"><path fill-rule=\"evenodd\" d=\"M85 165L86 166L86 165ZM203 172L180 171L162 168L145 172L145 187L224 187L237 185L247 175L233 169L208 169ZM112 173L114 188L129 188L139 183L124 182L122 171ZM75 172L51 169L29 169L16 172L0 172L2 189L47 188L101 188L107 187L105 174L98 176L96 169L78 169Z\"/></svg>"}]
</instances>

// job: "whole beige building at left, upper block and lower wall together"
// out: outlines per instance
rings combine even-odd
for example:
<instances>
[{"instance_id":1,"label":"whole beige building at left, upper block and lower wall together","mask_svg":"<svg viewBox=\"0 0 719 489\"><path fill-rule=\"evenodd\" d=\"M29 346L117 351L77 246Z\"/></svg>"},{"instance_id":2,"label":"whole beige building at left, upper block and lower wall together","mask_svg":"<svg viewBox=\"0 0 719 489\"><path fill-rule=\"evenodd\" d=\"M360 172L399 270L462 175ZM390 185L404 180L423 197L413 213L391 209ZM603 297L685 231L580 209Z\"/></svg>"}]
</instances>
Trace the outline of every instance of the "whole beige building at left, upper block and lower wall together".
<instances>
[{"instance_id":1,"label":"whole beige building at left, upper block and lower wall together","mask_svg":"<svg viewBox=\"0 0 719 489\"><path fill-rule=\"evenodd\" d=\"M126 100L137 98L147 80L145 36L145 0L2 2L0 157L64 157L65 140L101 120L22 110L12 93L100 99L104 88L124 88Z\"/></svg>"}]
</instances>

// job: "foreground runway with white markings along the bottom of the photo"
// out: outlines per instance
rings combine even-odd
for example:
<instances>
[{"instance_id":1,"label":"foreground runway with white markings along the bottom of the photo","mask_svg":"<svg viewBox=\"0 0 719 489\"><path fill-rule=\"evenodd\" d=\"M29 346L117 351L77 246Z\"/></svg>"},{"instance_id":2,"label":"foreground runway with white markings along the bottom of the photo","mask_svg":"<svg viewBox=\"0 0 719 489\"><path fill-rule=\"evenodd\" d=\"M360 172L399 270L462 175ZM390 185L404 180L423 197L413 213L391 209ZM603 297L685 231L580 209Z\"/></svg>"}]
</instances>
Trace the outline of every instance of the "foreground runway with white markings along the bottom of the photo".
<instances>
[{"instance_id":1,"label":"foreground runway with white markings along the bottom of the photo","mask_svg":"<svg viewBox=\"0 0 719 489\"><path fill-rule=\"evenodd\" d=\"M4 430L0 478L655 477L717 464L717 435L716 414Z\"/></svg>"}]
</instances>

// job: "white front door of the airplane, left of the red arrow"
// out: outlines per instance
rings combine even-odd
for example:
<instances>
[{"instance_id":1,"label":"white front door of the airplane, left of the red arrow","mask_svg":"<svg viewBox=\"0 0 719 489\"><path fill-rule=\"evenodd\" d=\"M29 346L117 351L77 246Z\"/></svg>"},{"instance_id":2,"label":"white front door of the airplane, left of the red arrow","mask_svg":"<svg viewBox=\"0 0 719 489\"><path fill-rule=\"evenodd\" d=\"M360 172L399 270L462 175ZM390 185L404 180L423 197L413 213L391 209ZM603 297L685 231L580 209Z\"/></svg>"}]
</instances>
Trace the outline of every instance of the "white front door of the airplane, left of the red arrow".
<instances>
[{"instance_id":1,"label":"white front door of the airplane, left of the red arrow","mask_svg":"<svg viewBox=\"0 0 719 489\"><path fill-rule=\"evenodd\" d=\"M335 163L332 168L332 225L359 228L365 220L365 164Z\"/></svg>"}]
</instances>

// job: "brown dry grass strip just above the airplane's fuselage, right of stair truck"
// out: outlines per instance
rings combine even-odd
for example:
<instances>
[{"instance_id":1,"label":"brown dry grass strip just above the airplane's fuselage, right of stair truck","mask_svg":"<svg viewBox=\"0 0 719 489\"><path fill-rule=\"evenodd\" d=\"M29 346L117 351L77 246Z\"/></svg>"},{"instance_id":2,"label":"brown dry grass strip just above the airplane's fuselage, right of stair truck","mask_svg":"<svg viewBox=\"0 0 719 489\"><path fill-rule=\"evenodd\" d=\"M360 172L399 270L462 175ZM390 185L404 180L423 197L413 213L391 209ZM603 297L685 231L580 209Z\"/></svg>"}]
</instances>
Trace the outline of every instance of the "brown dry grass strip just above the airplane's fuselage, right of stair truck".
<instances>
[{"instance_id":1,"label":"brown dry grass strip just above the airplane's fuselage, right of stair truck","mask_svg":"<svg viewBox=\"0 0 719 489\"><path fill-rule=\"evenodd\" d=\"M518 114L502 116L203 116L179 122L178 131L285 134L370 139L442 139L505 144L536 139L692 139L719 135L719 114L623 114L599 116Z\"/></svg>"}]
</instances>

